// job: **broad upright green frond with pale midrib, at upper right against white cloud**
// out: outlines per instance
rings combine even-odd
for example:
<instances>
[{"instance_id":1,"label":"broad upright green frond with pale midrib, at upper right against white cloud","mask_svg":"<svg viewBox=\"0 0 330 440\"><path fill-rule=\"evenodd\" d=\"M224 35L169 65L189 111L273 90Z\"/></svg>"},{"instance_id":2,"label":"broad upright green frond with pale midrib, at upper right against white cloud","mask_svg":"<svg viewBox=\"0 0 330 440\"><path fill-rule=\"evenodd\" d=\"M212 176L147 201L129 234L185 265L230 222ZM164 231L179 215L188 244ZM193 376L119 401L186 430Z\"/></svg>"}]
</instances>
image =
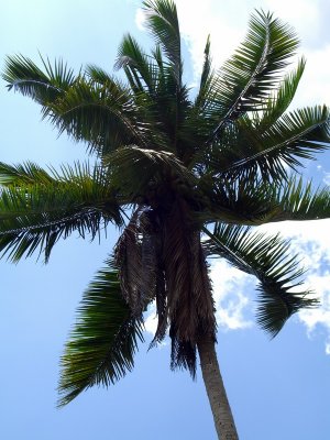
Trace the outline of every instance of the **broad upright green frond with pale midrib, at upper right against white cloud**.
<instances>
[{"instance_id":1,"label":"broad upright green frond with pale midrib, at upper right against white cloud","mask_svg":"<svg viewBox=\"0 0 330 440\"><path fill-rule=\"evenodd\" d=\"M264 109L270 91L278 85L279 74L298 47L293 29L273 19L271 13L251 16L250 30L237 53L222 67L217 79L219 123L212 133L217 138L228 121L246 111ZM219 102L216 106L216 102Z\"/></svg>"}]
</instances>

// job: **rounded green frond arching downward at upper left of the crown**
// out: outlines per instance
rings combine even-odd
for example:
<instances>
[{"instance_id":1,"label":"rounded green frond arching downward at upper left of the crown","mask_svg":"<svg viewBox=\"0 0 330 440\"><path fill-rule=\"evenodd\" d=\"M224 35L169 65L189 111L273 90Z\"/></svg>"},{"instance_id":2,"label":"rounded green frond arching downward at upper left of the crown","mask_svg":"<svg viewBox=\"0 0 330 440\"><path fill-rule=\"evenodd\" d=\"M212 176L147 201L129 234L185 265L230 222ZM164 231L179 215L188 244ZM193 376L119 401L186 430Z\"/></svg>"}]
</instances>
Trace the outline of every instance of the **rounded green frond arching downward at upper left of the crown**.
<instances>
[{"instance_id":1,"label":"rounded green frond arching downward at upper left of the crown","mask_svg":"<svg viewBox=\"0 0 330 440\"><path fill-rule=\"evenodd\" d=\"M136 117L130 92L114 80L100 86L80 79L50 111L59 133L88 142L100 154L134 141L143 143L145 127Z\"/></svg>"}]
</instances>

